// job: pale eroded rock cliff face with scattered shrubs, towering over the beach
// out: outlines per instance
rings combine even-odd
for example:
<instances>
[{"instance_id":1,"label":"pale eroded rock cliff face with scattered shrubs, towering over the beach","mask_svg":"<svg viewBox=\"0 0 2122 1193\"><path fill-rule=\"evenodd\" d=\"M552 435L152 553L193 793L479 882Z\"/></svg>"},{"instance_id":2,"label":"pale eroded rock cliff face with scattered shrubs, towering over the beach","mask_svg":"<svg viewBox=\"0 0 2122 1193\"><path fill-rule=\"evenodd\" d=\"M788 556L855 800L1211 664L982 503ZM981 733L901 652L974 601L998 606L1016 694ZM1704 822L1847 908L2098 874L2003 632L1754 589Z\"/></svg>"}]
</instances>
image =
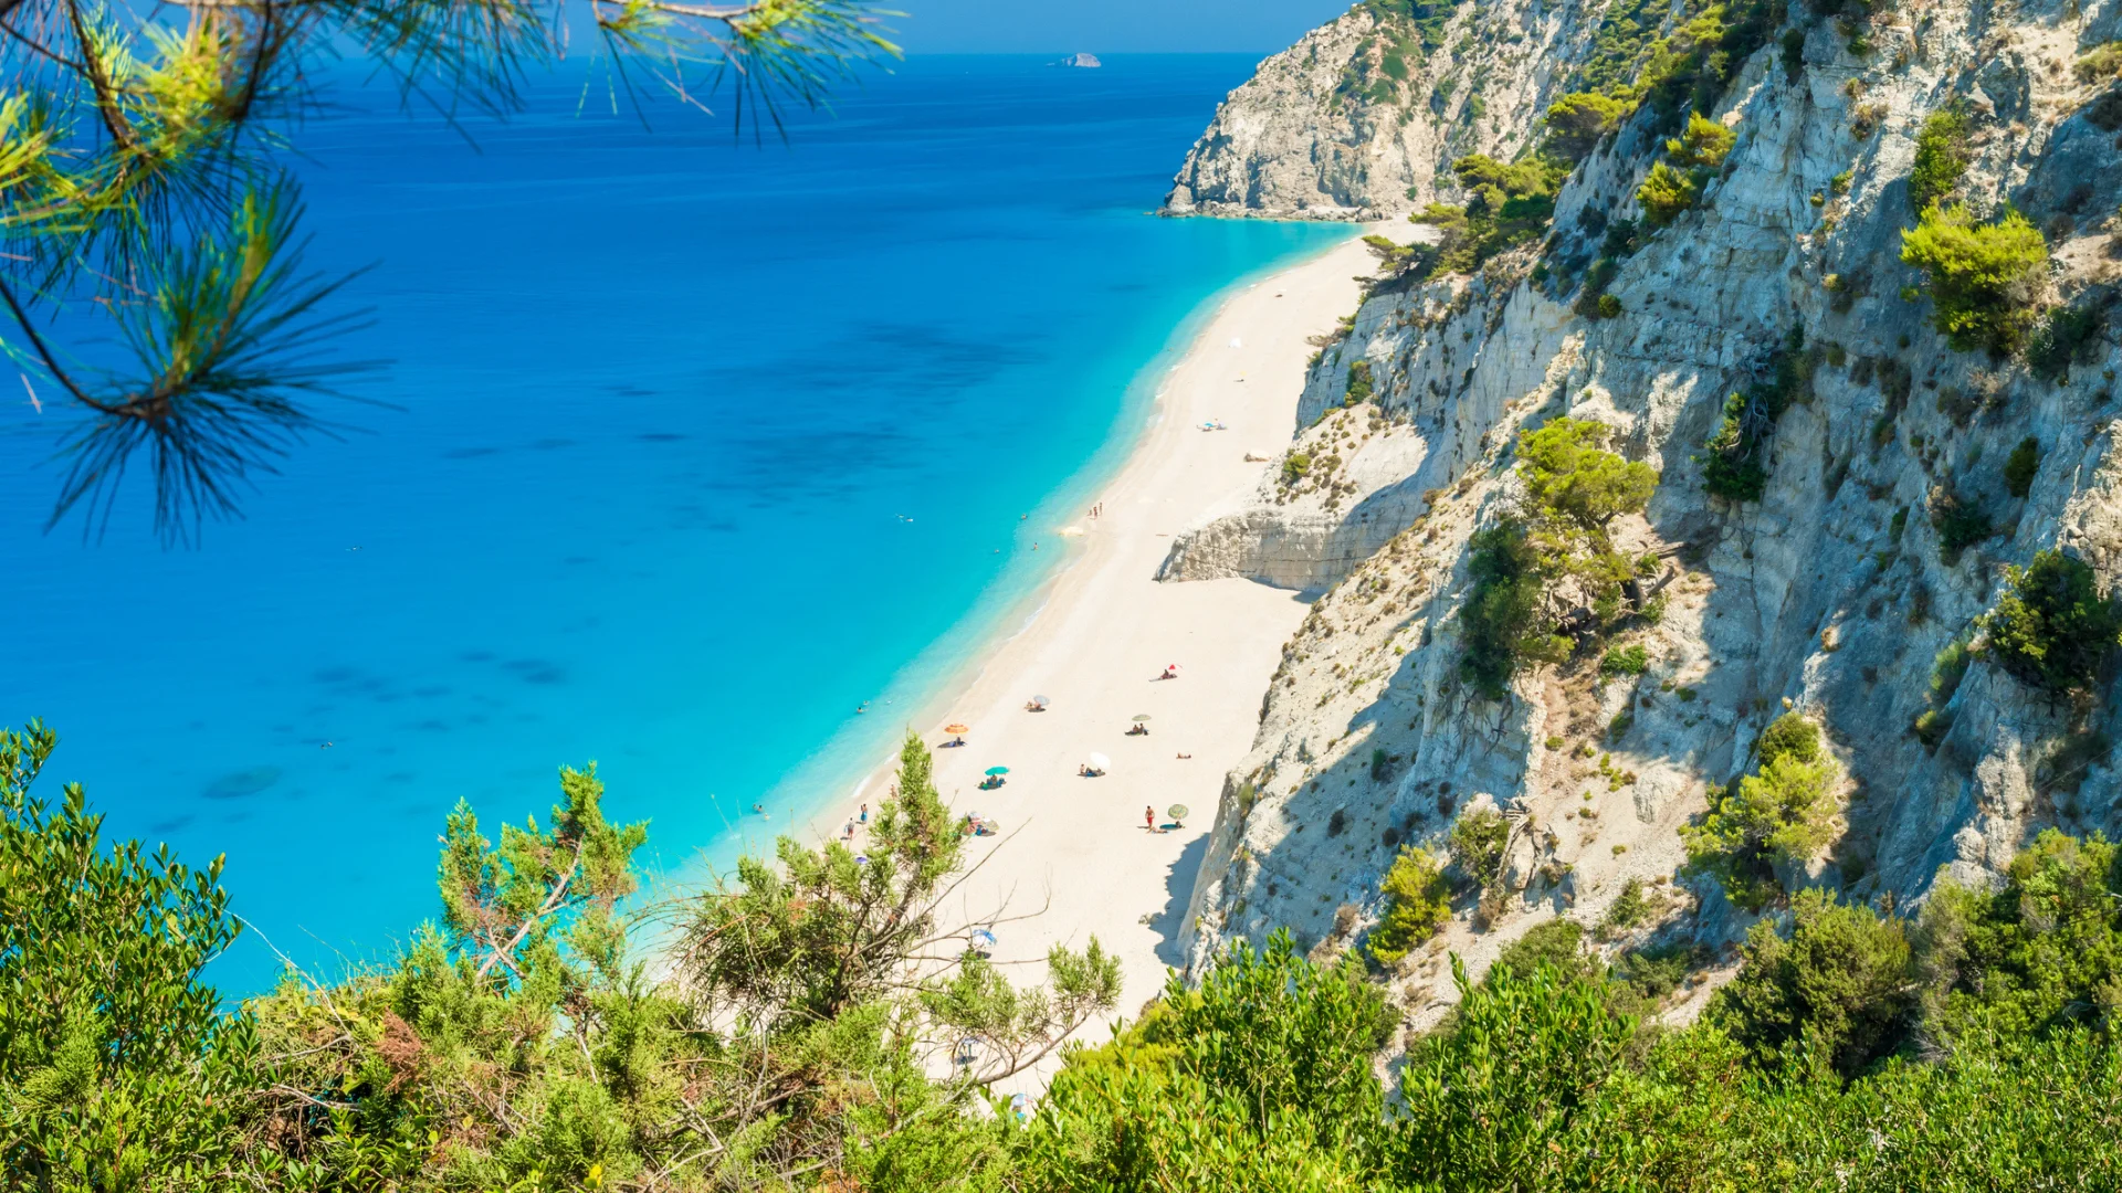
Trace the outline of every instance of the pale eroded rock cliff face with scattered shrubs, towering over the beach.
<instances>
[{"instance_id":1,"label":"pale eroded rock cliff face with scattered shrubs, towering over the beach","mask_svg":"<svg viewBox=\"0 0 2122 1193\"><path fill-rule=\"evenodd\" d=\"M1785 709L1825 728L1844 771L1838 841L1791 885L1906 904L1940 872L1993 879L2041 826L2122 830L2111 684L2050 698L1976 662L1950 701L1931 686L1933 658L1995 603L2005 565L2063 548L2103 590L2122 582L2116 335L2088 340L2067 376L1952 350L1925 295L1903 297L1923 276L1899 259L1914 140L1961 104L1961 195L2014 202L2043 227L2048 301L2097 306L2114 287L2122 91L2071 64L2122 36L2118 13L2118 0L1946 0L1838 28L1793 6L1802 55L1772 38L1723 91L1708 115L1736 144L1698 206L1619 261L1617 314L1602 318L1575 278L1615 221L1640 214L1659 144L1649 113L1570 176L1547 242L1364 301L1309 374L1292 444L1305 467L1275 469L1248 509L1182 535L1165 563L1167 580L1324 590L1224 785L1188 917L1193 966L1280 926L1322 951L1360 943L1398 845L1443 851L1475 807L1513 826L1500 898L1477 928L1464 896L1396 970L1417 1023L1456 998L1447 951L1479 974L1534 923L1600 923L1630 879L1657 913L1613 947L1653 934L1727 947L1753 917L1676 875L1679 828ZM1362 36L1362 19L1263 74ZM1517 70L1492 85L1545 87L1547 66ZM1218 127L1229 117L1227 104ZM1712 497L1702 444L1778 352L1806 384L1774 422L1768 488ZM1373 395L1347 403L1358 363ZM1659 560L1642 588L1662 618L1613 639L1642 645L1649 669L1602 679L1581 656L1485 701L1460 673L1468 537L1515 499L1519 429L1560 414L1608 425L1617 450L1662 473L1645 516L1615 531ZM2003 463L2024 439L2039 471L2014 497ZM1952 499L1995 533L1944 550L1933 516ZM1700 991L1676 1013L1698 1004Z\"/></svg>"}]
</instances>

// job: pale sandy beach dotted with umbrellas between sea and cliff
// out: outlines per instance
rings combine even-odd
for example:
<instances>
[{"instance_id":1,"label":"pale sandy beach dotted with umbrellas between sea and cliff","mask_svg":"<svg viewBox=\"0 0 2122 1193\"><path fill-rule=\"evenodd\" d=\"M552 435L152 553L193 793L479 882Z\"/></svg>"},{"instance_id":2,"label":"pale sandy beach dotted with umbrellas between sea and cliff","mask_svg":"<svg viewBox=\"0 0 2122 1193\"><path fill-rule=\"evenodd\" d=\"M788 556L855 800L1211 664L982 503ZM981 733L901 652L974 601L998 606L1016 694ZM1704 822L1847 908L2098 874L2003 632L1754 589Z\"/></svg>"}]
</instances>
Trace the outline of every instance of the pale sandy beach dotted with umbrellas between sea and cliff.
<instances>
[{"instance_id":1,"label":"pale sandy beach dotted with umbrellas between sea and cliff","mask_svg":"<svg viewBox=\"0 0 2122 1193\"><path fill-rule=\"evenodd\" d=\"M1377 231L1405 236L1407 225ZM1004 919L993 957L1019 962L1008 972L1021 983L1042 981L1055 943L1080 949L1095 934L1120 957L1118 1013L1133 1019L1180 959L1180 917L1222 777L1252 747L1260 694L1307 605L1248 580L1152 577L1171 535L1237 503L1273 467L1248 454L1280 461L1311 357L1307 340L1356 310L1354 278L1371 267L1352 234L1224 297L1161 384L1140 444L1091 499L1099 514L1078 509L1069 520L1080 554L1029 624L944 688L955 698L923 726L929 745L951 741L944 724L972 728L963 747L936 749L936 785L953 811L999 828L970 841L968 864L985 864L944 915ZM1180 677L1159 679L1171 662ZM1050 707L1027 711L1031 696L1048 696ZM1148 734L1127 734L1144 713ZM1112 768L1078 775L1091 754L1108 756ZM1008 766L1008 781L980 790L989 766ZM825 826L838 832L859 802L874 809L887 783L889 766L881 766L857 796L825 809ZM1171 805L1190 813L1163 828L1173 824ZM1159 832L1146 828L1144 809L1154 811ZM1106 1021L1084 1027L1091 1038L1106 1032ZM1038 1093L1055 1066L1019 1074L1002 1091Z\"/></svg>"}]
</instances>

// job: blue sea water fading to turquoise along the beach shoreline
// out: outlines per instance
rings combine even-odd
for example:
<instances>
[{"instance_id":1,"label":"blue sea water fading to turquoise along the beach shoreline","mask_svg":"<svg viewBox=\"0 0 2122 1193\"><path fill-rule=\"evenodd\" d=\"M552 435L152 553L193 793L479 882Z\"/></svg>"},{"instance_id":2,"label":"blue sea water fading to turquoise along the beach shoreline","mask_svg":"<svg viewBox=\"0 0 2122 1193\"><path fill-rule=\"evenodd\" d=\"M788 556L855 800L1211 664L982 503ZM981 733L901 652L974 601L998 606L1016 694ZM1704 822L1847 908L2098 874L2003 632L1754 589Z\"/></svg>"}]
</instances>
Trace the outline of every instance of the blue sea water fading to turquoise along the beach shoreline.
<instances>
[{"instance_id":1,"label":"blue sea water fading to turquoise along the beach shoreline","mask_svg":"<svg viewBox=\"0 0 2122 1193\"><path fill-rule=\"evenodd\" d=\"M310 259L373 263L342 352L393 408L163 550L138 501L40 533L62 414L0 399L0 717L325 972L433 915L456 800L543 817L562 762L664 872L802 824L1023 616L1188 318L1345 236L1146 214L1250 68L915 57L764 146L564 79L477 149L340 96Z\"/></svg>"}]
</instances>

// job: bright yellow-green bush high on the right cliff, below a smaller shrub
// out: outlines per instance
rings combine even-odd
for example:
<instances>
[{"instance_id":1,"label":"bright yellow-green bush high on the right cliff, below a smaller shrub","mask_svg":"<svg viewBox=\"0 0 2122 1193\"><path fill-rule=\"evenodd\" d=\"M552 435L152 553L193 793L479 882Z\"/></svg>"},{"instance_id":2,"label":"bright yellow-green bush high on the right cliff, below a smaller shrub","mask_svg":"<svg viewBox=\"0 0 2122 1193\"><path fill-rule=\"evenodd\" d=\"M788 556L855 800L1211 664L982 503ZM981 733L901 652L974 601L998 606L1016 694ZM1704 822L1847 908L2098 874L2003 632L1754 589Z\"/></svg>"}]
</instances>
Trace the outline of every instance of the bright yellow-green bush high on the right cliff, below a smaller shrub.
<instances>
[{"instance_id":1,"label":"bright yellow-green bush high on the right cliff, below a smaller shrub","mask_svg":"<svg viewBox=\"0 0 2122 1193\"><path fill-rule=\"evenodd\" d=\"M1901 231L1901 261L1929 278L1931 323L1954 348L2010 352L2027 338L2048 274L2048 240L2005 208L1978 225L1965 206L1923 210Z\"/></svg>"}]
</instances>

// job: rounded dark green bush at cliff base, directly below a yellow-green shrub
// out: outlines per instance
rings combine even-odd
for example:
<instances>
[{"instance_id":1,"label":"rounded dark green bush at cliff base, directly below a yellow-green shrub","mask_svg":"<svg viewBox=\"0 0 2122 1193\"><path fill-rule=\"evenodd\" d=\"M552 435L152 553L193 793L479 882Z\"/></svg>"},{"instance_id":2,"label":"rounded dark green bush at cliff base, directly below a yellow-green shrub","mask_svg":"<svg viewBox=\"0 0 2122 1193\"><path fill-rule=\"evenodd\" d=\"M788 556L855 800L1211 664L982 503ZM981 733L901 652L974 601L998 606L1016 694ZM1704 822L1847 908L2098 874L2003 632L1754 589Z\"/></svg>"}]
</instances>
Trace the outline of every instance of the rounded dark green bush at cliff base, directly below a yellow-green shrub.
<instances>
[{"instance_id":1,"label":"rounded dark green bush at cliff base, directly below a yellow-green shrub","mask_svg":"<svg viewBox=\"0 0 2122 1193\"><path fill-rule=\"evenodd\" d=\"M1906 1042L1916 1010L1910 976L1901 921L1808 889L1791 900L1789 936L1770 921L1753 926L1740 976L1704 1017L1761 1064L1808 1044L1853 1078Z\"/></svg>"}]
</instances>

